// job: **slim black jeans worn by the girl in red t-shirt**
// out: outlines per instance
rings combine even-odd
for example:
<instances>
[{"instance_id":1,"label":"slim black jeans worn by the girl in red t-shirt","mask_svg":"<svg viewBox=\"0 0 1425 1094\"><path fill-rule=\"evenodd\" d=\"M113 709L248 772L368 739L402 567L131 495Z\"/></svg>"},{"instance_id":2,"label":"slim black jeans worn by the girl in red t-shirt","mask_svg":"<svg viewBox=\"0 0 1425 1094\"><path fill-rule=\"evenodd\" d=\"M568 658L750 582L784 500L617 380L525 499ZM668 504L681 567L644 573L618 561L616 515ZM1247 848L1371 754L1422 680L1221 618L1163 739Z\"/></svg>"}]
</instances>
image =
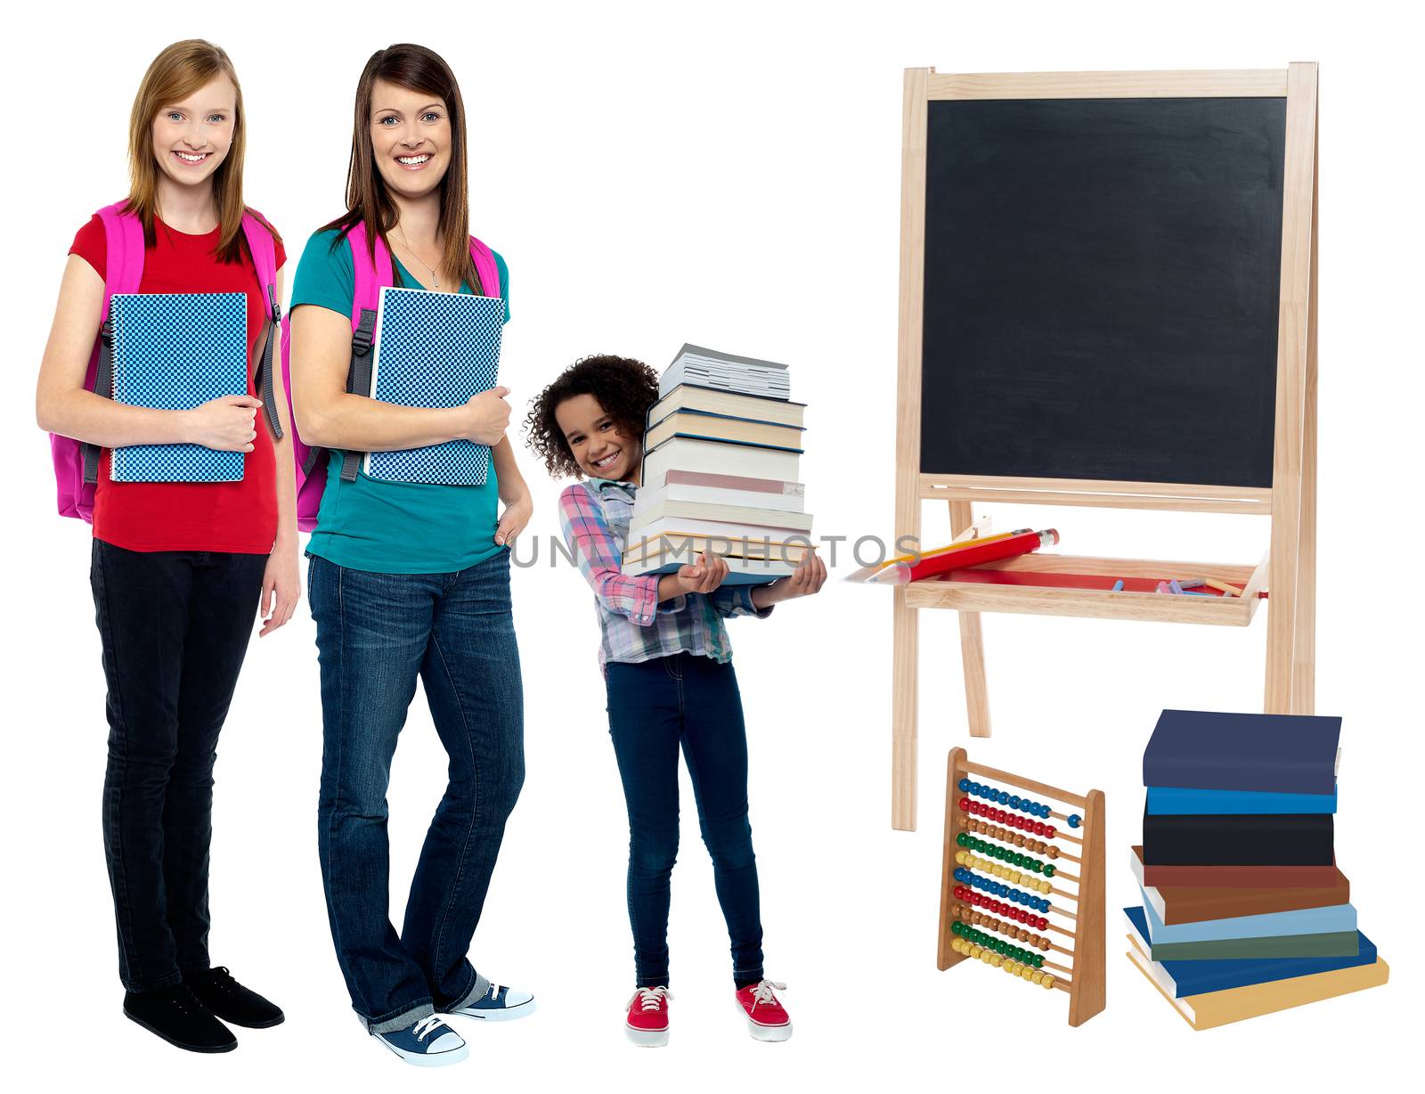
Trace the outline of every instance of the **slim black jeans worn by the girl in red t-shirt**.
<instances>
[{"instance_id":1,"label":"slim black jeans worn by the girl in red t-shirt","mask_svg":"<svg viewBox=\"0 0 1425 1094\"><path fill-rule=\"evenodd\" d=\"M90 584L108 682L104 850L118 976L130 991L208 967L212 764L266 558L94 540Z\"/></svg>"}]
</instances>

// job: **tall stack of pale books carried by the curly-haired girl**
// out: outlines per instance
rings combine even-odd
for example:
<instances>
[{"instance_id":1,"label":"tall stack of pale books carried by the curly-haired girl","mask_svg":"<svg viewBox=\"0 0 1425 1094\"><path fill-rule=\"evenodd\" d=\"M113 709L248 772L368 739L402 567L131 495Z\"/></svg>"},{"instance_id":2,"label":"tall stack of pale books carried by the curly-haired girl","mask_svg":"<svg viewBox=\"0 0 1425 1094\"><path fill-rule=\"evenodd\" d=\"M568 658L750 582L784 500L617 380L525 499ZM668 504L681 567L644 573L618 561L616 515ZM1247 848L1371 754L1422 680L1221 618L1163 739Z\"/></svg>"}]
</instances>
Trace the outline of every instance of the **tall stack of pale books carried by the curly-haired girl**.
<instances>
[{"instance_id":1,"label":"tall stack of pale books carried by the curly-haired girl","mask_svg":"<svg viewBox=\"0 0 1425 1094\"><path fill-rule=\"evenodd\" d=\"M785 365L684 346L644 423L626 574L722 556L725 584L791 574L814 550L801 483L804 415Z\"/></svg>"}]
</instances>

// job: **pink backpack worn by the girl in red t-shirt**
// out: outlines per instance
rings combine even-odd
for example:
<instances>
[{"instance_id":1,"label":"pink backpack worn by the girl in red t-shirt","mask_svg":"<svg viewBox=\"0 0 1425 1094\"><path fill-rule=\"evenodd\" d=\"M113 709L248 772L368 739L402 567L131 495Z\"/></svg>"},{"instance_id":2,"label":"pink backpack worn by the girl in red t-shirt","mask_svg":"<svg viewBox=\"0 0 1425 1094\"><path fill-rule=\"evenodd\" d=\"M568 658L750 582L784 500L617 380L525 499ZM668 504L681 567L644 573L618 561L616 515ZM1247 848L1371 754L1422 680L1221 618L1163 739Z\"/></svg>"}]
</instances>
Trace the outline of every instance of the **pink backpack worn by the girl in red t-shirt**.
<instances>
[{"instance_id":1,"label":"pink backpack worn by the girl in red t-shirt","mask_svg":"<svg viewBox=\"0 0 1425 1094\"><path fill-rule=\"evenodd\" d=\"M90 356L84 386L98 395L113 395L114 390L114 338L108 323L108 301L115 292L138 292L144 276L144 225L131 212L125 212L125 201L105 205L98 211L104 222L104 308L100 312L98 338ZM282 423L276 413L272 376L274 332L281 322L276 302L276 246L266 225L249 209L242 215L242 235L252 254L258 283L265 289L268 301L266 325L258 339L261 365L256 383L262 392L262 406L266 412L272 436L282 437ZM94 484L98 481L98 444L86 444L71 437L50 434L50 452L54 457L54 481L58 491L61 517L94 520Z\"/></svg>"}]
</instances>

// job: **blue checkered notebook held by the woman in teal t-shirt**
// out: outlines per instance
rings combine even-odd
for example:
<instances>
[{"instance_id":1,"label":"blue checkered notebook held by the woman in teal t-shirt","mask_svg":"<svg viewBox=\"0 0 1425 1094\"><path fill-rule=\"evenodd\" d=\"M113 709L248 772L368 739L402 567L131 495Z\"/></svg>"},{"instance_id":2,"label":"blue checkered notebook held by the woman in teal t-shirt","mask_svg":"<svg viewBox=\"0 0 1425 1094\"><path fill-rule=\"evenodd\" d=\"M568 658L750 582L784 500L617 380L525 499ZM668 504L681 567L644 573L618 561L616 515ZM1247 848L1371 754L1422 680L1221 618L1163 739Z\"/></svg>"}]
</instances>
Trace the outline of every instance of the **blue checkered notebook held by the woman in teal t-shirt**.
<instances>
[{"instance_id":1,"label":"blue checkered notebook held by the woman in teal t-shirt","mask_svg":"<svg viewBox=\"0 0 1425 1094\"><path fill-rule=\"evenodd\" d=\"M504 301L426 289L380 291L372 396L399 406L460 406L499 379ZM372 479L480 486L490 449L449 440L422 449L370 452Z\"/></svg>"}]
</instances>

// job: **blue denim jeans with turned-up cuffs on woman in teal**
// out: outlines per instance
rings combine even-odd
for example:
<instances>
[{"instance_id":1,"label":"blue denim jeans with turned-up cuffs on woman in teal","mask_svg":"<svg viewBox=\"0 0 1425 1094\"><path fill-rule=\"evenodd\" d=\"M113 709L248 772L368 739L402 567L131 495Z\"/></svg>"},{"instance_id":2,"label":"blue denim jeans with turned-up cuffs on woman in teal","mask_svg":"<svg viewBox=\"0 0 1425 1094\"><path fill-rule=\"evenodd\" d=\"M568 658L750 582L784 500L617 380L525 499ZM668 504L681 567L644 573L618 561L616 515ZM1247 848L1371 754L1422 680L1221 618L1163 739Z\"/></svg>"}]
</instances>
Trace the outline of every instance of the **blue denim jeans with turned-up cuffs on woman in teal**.
<instances>
[{"instance_id":1,"label":"blue denim jeans with turned-up cuffs on woman in teal","mask_svg":"<svg viewBox=\"0 0 1425 1094\"><path fill-rule=\"evenodd\" d=\"M524 781L509 551L455 574L308 568L322 667L318 852L336 960L372 1033L452 1011L489 981L466 957ZM450 756L396 934L386 786L420 678Z\"/></svg>"}]
</instances>

